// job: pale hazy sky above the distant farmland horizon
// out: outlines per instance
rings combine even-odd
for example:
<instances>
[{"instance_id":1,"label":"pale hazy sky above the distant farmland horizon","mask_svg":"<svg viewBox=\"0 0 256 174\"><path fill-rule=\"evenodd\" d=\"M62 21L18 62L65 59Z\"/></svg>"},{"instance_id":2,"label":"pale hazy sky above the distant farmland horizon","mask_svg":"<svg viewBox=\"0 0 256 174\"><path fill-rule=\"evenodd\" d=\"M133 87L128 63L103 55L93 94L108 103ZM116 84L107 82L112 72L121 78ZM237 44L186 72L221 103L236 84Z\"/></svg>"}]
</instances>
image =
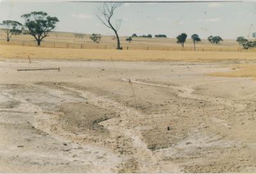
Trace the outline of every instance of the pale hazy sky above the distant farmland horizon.
<instances>
[{"instance_id":1,"label":"pale hazy sky above the distant farmland horizon","mask_svg":"<svg viewBox=\"0 0 256 174\"><path fill-rule=\"evenodd\" d=\"M95 9L100 5L102 3L0 0L0 22L17 20L22 23L22 14L44 11L60 20L54 31L114 35L95 16ZM196 33L200 38L210 35L226 39L251 37L256 32L256 2L123 3L116 10L113 23L118 20L122 20L120 36L164 34L175 38L180 33L188 36Z\"/></svg>"}]
</instances>

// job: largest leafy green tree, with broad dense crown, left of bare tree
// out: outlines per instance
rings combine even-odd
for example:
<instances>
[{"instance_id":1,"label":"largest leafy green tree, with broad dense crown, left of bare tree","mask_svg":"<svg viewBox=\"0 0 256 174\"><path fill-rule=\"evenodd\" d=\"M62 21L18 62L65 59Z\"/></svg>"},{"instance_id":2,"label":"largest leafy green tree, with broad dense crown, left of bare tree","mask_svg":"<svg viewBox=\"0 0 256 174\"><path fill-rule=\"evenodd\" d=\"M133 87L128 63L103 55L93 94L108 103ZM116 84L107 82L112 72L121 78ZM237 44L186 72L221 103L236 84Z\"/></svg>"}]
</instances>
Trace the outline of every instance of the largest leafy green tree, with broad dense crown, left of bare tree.
<instances>
[{"instance_id":1,"label":"largest leafy green tree, with broad dense crown, left of bare tree","mask_svg":"<svg viewBox=\"0 0 256 174\"><path fill-rule=\"evenodd\" d=\"M51 17L45 12L31 12L21 16L25 20L25 34L31 35L40 46L41 41L49 36L56 23L59 22L57 17Z\"/></svg>"}]
</instances>

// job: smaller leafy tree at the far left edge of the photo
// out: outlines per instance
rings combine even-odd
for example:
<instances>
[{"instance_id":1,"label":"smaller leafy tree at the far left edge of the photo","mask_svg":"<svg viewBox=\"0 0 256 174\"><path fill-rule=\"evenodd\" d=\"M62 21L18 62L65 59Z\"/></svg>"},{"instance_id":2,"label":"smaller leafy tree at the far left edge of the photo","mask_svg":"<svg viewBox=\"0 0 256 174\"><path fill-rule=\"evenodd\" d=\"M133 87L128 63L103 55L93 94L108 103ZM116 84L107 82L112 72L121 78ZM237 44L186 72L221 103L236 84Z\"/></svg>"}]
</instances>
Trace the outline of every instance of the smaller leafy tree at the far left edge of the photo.
<instances>
[{"instance_id":1,"label":"smaller leafy tree at the far left edge of the photo","mask_svg":"<svg viewBox=\"0 0 256 174\"><path fill-rule=\"evenodd\" d=\"M10 41L12 35L19 35L22 32L22 24L15 20L3 20L1 26L4 31L2 35L6 37L7 42Z\"/></svg>"}]
</instances>

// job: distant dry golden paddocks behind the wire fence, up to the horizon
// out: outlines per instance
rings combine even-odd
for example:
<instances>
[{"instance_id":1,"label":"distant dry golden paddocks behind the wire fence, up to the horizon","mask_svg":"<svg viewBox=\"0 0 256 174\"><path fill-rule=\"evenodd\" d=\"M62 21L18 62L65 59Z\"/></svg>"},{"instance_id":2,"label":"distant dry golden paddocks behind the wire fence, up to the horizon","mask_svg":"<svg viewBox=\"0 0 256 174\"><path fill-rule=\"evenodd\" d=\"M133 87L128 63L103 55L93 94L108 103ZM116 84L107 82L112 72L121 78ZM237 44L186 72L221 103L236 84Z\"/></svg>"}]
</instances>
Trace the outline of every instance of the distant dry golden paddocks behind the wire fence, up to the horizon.
<instances>
[{"instance_id":1,"label":"distant dry golden paddocks behind the wire fence, up to the horizon","mask_svg":"<svg viewBox=\"0 0 256 174\"><path fill-rule=\"evenodd\" d=\"M3 31L0 31L3 33ZM84 35L83 38L76 38L74 33L52 32L49 37L45 38L41 47L62 47L62 48L76 48L76 49L115 49L116 40L114 36L102 36L100 43L93 43L90 40L90 35ZM177 44L175 38L132 38L129 43L125 39L127 37L121 36L120 40L123 49L132 50L159 50L159 51L181 51L180 44ZM17 35L13 36L8 43L4 40L4 36L0 35L0 44L4 45L27 45L36 46L33 36ZM241 47L235 40L224 40L219 45L209 43L203 39L202 42L196 44L197 51L241 51ZM194 45L189 38L185 43L184 51L194 51ZM255 51L254 49L251 51Z\"/></svg>"}]
</instances>

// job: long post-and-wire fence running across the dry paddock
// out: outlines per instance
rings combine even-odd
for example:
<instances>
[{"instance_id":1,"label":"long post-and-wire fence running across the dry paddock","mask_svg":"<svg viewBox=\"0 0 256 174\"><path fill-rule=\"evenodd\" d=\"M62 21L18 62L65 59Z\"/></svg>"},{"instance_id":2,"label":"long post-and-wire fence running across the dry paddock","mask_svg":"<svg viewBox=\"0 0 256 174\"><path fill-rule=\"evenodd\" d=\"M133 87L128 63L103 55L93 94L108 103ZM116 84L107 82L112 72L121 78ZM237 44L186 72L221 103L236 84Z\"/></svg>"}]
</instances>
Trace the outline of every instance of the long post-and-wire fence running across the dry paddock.
<instances>
[{"instance_id":1,"label":"long post-and-wire fence running across the dry paddock","mask_svg":"<svg viewBox=\"0 0 256 174\"><path fill-rule=\"evenodd\" d=\"M22 45L22 46L30 46L30 47L38 47L37 42L34 41L20 41L14 40L10 42L0 41L1 45ZM116 49L116 45L112 43L103 44L103 43L69 43L69 42L41 42L40 47L52 47L52 48L70 48L70 49ZM155 50L155 51L194 51L194 47L189 45L184 47L178 46L165 46L165 45L130 45L130 44L123 44L122 45L124 50ZM240 47L196 47L196 51L256 51L256 49L244 50Z\"/></svg>"}]
</instances>

